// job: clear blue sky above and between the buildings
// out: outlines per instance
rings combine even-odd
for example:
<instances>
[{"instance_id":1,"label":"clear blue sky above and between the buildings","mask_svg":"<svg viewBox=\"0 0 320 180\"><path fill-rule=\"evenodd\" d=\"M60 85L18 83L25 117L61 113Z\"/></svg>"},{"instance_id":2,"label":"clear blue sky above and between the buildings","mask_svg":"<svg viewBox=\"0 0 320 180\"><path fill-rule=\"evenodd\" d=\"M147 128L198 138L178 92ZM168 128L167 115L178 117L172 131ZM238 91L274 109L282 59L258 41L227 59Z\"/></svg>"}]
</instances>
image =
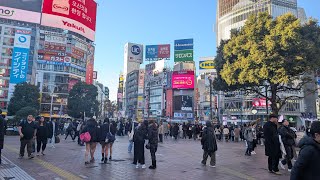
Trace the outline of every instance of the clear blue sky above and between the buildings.
<instances>
[{"instance_id":1,"label":"clear blue sky above and between the buildings","mask_svg":"<svg viewBox=\"0 0 320 180\"><path fill-rule=\"evenodd\" d=\"M193 38L194 57L214 56L217 0L97 0L95 70L98 81L116 99L118 77L123 69L123 47L127 42L171 44ZM320 19L319 0L298 0L307 16ZM171 47L171 56L173 47ZM173 56L171 57L173 62ZM173 64L173 63L172 63ZM196 63L198 64L198 63Z\"/></svg>"}]
</instances>

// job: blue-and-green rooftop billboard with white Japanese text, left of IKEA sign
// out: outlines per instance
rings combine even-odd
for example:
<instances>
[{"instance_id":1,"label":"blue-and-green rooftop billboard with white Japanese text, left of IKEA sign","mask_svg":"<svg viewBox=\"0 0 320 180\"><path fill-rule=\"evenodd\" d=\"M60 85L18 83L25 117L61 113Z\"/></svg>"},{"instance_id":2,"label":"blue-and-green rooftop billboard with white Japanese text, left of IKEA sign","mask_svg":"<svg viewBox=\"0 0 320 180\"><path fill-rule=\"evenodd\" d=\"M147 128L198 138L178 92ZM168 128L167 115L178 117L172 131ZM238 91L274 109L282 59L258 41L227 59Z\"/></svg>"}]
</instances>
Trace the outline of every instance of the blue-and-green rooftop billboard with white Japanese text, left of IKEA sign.
<instances>
[{"instance_id":1,"label":"blue-and-green rooftop billboard with white Japanese text, left of IKEA sign","mask_svg":"<svg viewBox=\"0 0 320 180\"><path fill-rule=\"evenodd\" d=\"M193 39L174 41L174 62L193 61Z\"/></svg>"}]
</instances>

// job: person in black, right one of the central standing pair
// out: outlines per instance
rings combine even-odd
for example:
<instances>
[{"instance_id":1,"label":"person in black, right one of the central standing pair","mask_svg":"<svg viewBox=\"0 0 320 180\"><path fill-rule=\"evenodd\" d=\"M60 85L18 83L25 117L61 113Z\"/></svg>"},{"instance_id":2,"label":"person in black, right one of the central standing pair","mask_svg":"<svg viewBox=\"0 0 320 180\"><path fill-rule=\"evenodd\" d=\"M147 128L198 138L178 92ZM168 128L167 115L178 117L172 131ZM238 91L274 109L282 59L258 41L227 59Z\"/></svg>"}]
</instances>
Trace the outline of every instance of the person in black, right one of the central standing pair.
<instances>
[{"instance_id":1,"label":"person in black, right one of the central standing pair","mask_svg":"<svg viewBox=\"0 0 320 180\"><path fill-rule=\"evenodd\" d=\"M148 139L150 145L150 154L152 165L149 169L156 169L157 168L157 161L156 161L156 152L158 149L158 127L157 124L152 121L148 128Z\"/></svg>"}]
</instances>

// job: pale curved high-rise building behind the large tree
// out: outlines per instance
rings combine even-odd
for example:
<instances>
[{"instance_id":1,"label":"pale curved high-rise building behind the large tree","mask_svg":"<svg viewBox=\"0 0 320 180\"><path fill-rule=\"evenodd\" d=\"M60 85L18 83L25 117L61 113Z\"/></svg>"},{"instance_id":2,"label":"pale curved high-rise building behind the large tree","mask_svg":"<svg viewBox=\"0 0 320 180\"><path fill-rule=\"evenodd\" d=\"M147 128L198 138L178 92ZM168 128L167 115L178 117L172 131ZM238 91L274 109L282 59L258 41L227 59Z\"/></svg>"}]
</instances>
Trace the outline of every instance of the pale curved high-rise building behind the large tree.
<instances>
[{"instance_id":1,"label":"pale curved high-rise building behind the large tree","mask_svg":"<svg viewBox=\"0 0 320 180\"><path fill-rule=\"evenodd\" d=\"M298 8L297 0L218 0L216 16L217 46L219 46L221 40L230 38L231 30L241 28L250 15L259 12L268 12L273 18L290 12L300 18L302 23L306 22L305 12L303 8ZM292 94L281 94L283 97L288 95ZM304 93L295 95L304 96ZM266 107L268 107L265 99L255 94L244 96L242 92L224 93L221 98L221 106L222 119L227 122L263 119L266 115ZM306 105L304 100L291 100L288 101L280 113L285 115L292 123L300 126L304 124L301 112L308 111L307 107L309 106ZM313 108L314 106L310 107ZM253 113L252 109L258 111ZM269 107L269 112L270 110Z\"/></svg>"}]
</instances>

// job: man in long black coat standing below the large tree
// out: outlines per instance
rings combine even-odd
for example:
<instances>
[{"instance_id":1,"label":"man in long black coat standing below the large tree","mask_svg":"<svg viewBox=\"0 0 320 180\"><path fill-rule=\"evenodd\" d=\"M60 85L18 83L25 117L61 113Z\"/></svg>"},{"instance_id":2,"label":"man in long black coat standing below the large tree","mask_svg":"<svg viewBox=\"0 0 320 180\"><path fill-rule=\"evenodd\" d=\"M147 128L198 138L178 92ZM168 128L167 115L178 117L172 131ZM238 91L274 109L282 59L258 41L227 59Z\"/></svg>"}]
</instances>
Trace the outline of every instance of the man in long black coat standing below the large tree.
<instances>
[{"instance_id":1,"label":"man in long black coat standing below the large tree","mask_svg":"<svg viewBox=\"0 0 320 180\"><path fill-rule=\"evenodd\" d=\"M271 114L269 121L263 126L263 133L265 137L265 154L268 156L269 172L281 175L278 168L281 151L277 123L278 116Z\"/></svg>"}]
</instances>

